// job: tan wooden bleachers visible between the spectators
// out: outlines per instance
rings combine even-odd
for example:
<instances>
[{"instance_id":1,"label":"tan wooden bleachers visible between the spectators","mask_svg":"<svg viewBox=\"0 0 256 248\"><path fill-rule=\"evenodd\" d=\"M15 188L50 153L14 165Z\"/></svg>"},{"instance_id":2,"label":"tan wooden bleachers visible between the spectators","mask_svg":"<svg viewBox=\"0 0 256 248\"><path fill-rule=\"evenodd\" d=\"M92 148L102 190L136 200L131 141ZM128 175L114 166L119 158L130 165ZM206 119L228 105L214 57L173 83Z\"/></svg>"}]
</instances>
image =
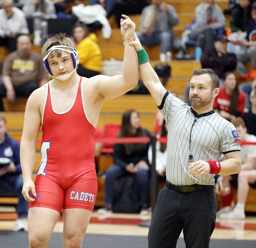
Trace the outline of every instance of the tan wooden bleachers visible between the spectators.
<instances>
[{"instance_id":1,"label":"tan wooden bleachers visible between the spectators","mask_svg":"<svg viewBox=\"0 0 256 248\"><path fill-rule=\"evenodd\" d=\"M165 0L166 3L172 4L179 15L179 25L173 28L175 36L180 36L187 25L190 25L194 16L195 8L201 3L201 0ZM88 4L87 0L75 1L74 3L66 3L66 12L70 12L72 6L77 4ZM220 6L222 11L227 8L228 0L215 0L215 3ZM136 31L139 30L140 26L140 15L131 15L132 20L136 24ZM229 16L226 16L227 22L226 27L229 25ZM100 30L95 31L98 37L98 44L102 51L103 59L115 58L117 60L123 60L124 47L123 41L120 34L120 29L117 28L115 19L109 18L109 23L112 27L112 36L106 40L102 36ZM159 63L160 47L145 47L152 66ZM32 50L41 53L41 46L32 46ZM0 63L4 61L8 55L8 50L4 47L0 47ZM193 54L194 48L188 47L188 53ZM172 51L173 58L175 52ZM181 99L183 99L184 89L187 82L192 76L193 69L200 69L201 64L198 61L182 61L172 60L169 65L172 67L172 77L168 80L165 85L168 91L176 91ZM250 68L250 67L249 67ZM11 104L4 100L4 107L6 111L4 116L7 119L7 125L9 134L20 140L24 122L24 110L26 106L26 98L18 98L18 104ZM100 113L98 126L103 129L107 123L121 124L122 113L127 110L134 108L140 113L140 123L142 127L147 128L150 132L154 130L155 112L157 111L156 105L151 96L121 96L116 99L106 101L102 107ZM18 112L17 112L18 111ZM40 131L38 136L38 142L36 144L36 163L34 165L34 176L35 178L38 166L40 164L40 141L42 133ZM105 171L109 166L113 164L111 155L104 155L100 159L100 171ZM98 180L98 195L96 200L96 206L102 206L104 201L104 178L101 177ZM236 199L236 190L232 191L234 199ZM255 190L250 188L248 199L246 202L245 210L255 212ZM219 199L219 198L218 198ZM0 204L17 204L18 199L16 197L0 197ZM218 201L220 207L220 201Z\"/></svg>"}]
</instances>

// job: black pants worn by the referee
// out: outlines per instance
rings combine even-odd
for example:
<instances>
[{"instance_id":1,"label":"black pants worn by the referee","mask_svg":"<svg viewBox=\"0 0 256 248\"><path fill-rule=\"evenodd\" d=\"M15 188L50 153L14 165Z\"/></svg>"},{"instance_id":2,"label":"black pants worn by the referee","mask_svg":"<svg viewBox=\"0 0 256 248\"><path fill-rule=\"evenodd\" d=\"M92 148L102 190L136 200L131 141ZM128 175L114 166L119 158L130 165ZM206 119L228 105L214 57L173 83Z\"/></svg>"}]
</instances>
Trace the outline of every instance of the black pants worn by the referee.
<instances>
[{"instance_id":1,"label":"black pants worn by the referee","mask_svg":"<svg viewBox=\"0 0 256 248\"><path fill-rule=\"evenodd\" d=\"M182 229L186 248L207 248L215 220L213 188L178 193L164 186L152 215L148 248L175 248Z\"/></svg>"}]
</instances>

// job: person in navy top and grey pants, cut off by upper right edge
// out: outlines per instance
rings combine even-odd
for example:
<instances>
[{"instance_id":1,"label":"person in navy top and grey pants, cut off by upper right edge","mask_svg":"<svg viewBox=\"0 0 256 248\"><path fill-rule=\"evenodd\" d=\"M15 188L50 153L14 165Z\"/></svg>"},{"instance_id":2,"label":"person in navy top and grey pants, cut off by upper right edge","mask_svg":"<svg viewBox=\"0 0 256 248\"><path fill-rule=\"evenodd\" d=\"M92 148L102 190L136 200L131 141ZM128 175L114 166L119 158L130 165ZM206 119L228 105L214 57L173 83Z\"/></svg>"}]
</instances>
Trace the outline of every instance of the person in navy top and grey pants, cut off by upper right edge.
<instances>
[{"instance_id":1,"label":"person in navy top and grey pants, cut off by upper right edge","mask_svg":"<svg viewBox=\"0 0 256 248\"><path fill-rule=\"evenodd\" d=\"M252 19L247 28L247 36L245 40L236 40L230 38L229 40L235 44L244 47L239 52L236 52L237 57L237 67L236 70L240 75L244 77L251 77L254 78L256 76L256 2L252 4ZM248 73L248 70L245 68L244 63L251 61L252 62L252 69L255 71L254 76L252 77Z\"/></svg>"}]
</instances>

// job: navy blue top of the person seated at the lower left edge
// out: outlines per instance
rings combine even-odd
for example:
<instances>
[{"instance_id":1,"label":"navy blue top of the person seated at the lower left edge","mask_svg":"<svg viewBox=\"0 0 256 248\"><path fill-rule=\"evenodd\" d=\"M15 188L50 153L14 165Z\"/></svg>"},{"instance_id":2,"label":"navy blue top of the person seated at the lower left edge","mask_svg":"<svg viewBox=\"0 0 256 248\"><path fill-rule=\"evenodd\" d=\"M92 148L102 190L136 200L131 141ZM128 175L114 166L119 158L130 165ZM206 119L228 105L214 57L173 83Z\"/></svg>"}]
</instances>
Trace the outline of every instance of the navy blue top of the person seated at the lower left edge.
<instances>
[{"instance_id":1,"label":"navy blue top of the person seated at the lower left edge","mask_svg":"<svg viewBox=\"0 0 256 248\"><path fill-rule=\"evenodd\" d=\"M8 134L5 134L4 142L0 144L0 158L9 158L16 167L15 174L21 173L20 144Z\"/></svg>"}]
</instances>

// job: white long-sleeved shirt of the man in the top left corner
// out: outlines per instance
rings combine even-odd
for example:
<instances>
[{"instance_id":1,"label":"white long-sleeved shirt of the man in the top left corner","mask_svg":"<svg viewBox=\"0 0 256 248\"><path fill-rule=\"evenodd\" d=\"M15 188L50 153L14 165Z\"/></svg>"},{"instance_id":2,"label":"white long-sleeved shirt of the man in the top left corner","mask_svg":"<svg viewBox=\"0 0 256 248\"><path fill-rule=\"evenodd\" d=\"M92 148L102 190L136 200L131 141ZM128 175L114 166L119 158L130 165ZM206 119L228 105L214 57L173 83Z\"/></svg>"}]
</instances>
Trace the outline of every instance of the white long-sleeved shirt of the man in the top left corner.
<instances>
[{"instance_id":1,"label":"white long-sleeved shirt of the man in the top left corner","mask_svg":"<svg viewBox=\"0 0 256 248\"><path fill-rule=\"evenodd\" d=\"M0 10L0 36L5 37L6 32L28 34L28 23L25 14L17 7L12 7L13 14L7 18L4 9Z\"/></svg>"}]
</instances>

